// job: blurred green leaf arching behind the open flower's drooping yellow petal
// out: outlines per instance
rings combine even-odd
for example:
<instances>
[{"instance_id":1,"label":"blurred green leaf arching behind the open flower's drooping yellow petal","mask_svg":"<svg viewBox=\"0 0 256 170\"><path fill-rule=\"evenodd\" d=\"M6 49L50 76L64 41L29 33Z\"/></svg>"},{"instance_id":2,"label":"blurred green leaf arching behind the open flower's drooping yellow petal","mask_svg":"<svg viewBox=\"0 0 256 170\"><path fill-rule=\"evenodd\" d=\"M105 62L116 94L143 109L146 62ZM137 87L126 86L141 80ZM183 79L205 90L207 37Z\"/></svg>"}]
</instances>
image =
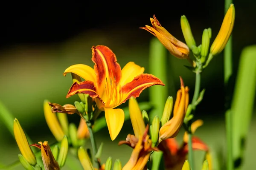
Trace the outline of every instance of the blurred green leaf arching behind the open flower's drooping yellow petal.
<instances>
[{"instance_id":1,"label":"blurred green leaf arching behind the open flower's drooping yellow petal","mask_svg":"<svg viewBox=\"0 0 256 170\"><path fill-rule=\"evenodd\" d=\"M139 103L139 106L140 106L140 110L143 111L148 111L149 109L152 108L152 105L148 102L141 102ZM128 107L125 107L125 108L122 108L122 110L125 112L125 120L128 120L130 119L130 115L129 115L129 108ZM96 119L94 125L93 125L93 132L98 132L99 130L101 130L103 127L106 127L107 126L107 123L106 123L106 119L105 119L105 116L99 118L99 119Z\"/></svg>"}]
</instances>

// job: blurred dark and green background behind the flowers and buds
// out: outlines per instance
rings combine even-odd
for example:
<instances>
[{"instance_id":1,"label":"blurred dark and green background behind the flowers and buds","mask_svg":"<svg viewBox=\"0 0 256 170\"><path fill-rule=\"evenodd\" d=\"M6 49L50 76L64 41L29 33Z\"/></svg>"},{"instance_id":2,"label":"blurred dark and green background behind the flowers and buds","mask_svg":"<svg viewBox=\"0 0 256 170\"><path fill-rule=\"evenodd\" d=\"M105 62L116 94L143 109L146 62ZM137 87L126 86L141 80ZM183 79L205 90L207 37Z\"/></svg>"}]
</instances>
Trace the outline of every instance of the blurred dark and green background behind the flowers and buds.
<instances>
[{"instance_id":1,"label":"blurred dark and green background behind the flowers and buds","mask_svg":"<svg viewBox=\"0 0 256 170\"><path fill-rule=\"evenodd\" d=\"M236 20L233 29L234 74L241 50L256 44L254 18L256 1L235 0ZM91 47L106 45L116 54L123 67L134 61L145 67L148 73L149 42L153 35L139 29L151 25L149 18L156 15L161 25L177 39L184 42L180 29L180 16L189 20L195 40L199 45L204 28L212 28L212 39L217 35L224 17L224 1L163 1L154 3L9 3L0 10L0 101L20 121L33 142L55 139L49 131L43 114L43 101L61 105L79 100L78 96L65 98L71 75L64 77L64 70L73 64L87 64L91 61ZM207 144L218 150L225 150L223 54L216 56L202 74L202 88L206 88L203 102L197 108L197 116L204 120L204 126L196 132ZM168 58L169 95L175 96L179 88L179 76L193 94L195 75L183 65L186 60ZM253 93L253 92L252 92ZM148 101L145 90L138 101ZM164 103L163 103L164 105ZM122 106L127 106L123 104ZM247 141L244 170L256 167L255 140L256 117L250 126ZM68 116L70 122L79 123L79 116ZM117 146L132 133L131 122L125 122L121 133L111 141L108 129L96 133L98 145L104 142L102 162L108 156L121 159L124 165L130 157L131 148ZM183 129L177 139L181 139ZM88 142L88 146L89 146ZM17 144L7 128L0 122L0 163L16 161L20 153ZM201 159L200 153L196 153ZM17 166L15 169L22 169ZM65 166L64 169L73 169Z\"/></svg>"}]
</instances>

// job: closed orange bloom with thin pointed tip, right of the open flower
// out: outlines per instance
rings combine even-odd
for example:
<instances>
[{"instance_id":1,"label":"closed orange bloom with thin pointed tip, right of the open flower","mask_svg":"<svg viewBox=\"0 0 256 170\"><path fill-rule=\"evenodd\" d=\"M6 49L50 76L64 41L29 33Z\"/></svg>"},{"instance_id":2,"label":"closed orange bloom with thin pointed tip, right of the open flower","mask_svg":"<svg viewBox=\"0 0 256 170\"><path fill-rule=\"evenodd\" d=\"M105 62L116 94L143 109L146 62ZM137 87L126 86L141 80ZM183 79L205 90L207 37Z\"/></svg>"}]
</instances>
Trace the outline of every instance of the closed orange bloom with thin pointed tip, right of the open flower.
<instances>
[{"instance_id":1,"label":"closed orange bloom with thin pointed tip, right of the open flower","mask_svg":"<svg viewBox=\"0 0 256 170\"><path fill-rule=\"evenodd\" d=\"M159 143L168 138L174 138L180 131L186 109L189 105L189 88L184 87L182 78L180 77L180 89L177 91L176 101L173 110L173 117L166 122L159 130Z\"/></svg>"}]
</instances>

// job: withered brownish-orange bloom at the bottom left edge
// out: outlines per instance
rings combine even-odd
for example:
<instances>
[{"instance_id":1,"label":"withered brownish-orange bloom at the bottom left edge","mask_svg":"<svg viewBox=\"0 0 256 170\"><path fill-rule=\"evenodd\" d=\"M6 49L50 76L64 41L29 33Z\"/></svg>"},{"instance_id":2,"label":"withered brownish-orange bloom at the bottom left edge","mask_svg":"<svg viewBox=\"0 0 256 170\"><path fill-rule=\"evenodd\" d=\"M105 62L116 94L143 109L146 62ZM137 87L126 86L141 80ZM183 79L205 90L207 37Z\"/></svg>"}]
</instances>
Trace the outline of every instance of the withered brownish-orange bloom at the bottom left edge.
<instances>
[{"instance_id":1,"label":"withered brownish-orange bloom at the bottom left edge","mask_svg":"<svg viewBox=\"0 0 256 170\"><path fill-rule=\"evenodd\" d=\"M52 155L51 148L48 145L47 141L38 142L39 144L32 144L31 146L38 147L41 149L41 155L42 160L44 163L44 169L45 170L60 170L60 167L58 165L58 162L54 159L54 156Z\"/></svg>"}]
</instances>

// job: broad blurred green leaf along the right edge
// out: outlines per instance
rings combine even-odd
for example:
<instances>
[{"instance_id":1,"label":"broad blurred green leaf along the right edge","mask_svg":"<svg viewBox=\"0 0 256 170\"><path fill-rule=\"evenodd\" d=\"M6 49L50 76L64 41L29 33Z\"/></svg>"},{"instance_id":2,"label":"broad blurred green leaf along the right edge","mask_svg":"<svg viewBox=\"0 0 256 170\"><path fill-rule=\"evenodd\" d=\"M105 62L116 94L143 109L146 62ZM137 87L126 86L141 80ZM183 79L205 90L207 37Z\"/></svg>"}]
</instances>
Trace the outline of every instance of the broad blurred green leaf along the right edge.
<instances>
[{"instance_id":1,"label":"broad blurred green leaf along the right edge","mask_svg":"<svg viewBox=\"0 0 256 170\"><path fill-rule=\"evenodd\" d=\"M233 159L240 167L253 112L256 90L256 45L244 48L241 53L235 92L231 104Z\"/></svg>"}]
</instances>

